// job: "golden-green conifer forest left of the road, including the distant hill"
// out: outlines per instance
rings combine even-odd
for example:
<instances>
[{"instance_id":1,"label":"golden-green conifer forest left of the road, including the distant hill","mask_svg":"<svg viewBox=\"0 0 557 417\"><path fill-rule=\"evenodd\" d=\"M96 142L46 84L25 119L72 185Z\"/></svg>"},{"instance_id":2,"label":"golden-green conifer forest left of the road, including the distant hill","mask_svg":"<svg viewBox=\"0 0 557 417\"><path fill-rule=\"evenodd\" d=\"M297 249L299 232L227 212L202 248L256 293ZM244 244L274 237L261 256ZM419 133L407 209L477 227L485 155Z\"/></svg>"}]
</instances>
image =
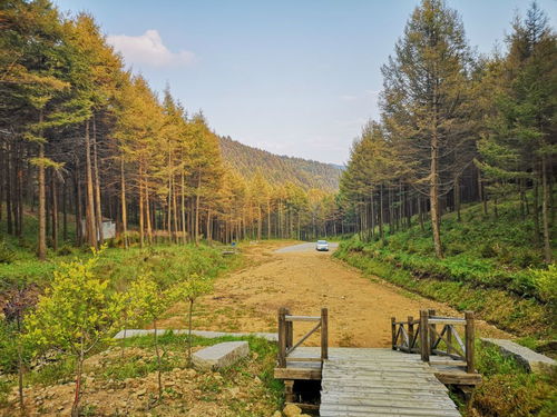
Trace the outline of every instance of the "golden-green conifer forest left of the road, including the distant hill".
<instances>
[{"instance_id":1,"label":"golden-green conifer forest left of the road, including the distant hill","mask_svg":"<svg viewBox=\"0 0 557 417\"><path fill-rule=\"evenodd\" d=\"M40 259L62 242L99 247L106 219L124 247L342 229L338 169L224 141L231 169L203 113L126 70L91 16L49 1L0 12L0 224L12 244Z\"/></svg>"}]
</instances>

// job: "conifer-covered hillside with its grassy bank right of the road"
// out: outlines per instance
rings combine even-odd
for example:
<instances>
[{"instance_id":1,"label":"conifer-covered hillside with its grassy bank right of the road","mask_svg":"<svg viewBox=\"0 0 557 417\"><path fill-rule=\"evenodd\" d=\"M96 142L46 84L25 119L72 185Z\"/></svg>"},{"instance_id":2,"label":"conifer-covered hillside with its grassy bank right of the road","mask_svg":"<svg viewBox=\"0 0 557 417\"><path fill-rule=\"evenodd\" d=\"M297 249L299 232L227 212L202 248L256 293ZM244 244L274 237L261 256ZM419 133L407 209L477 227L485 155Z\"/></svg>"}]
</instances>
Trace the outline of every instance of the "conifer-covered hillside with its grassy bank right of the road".
<instances>
[{"instance_id":1,"label":"conifer-covered hillside with its grassy bank right of the road","mask_svg":"<svg viewBox=\"0 0 557 417\"><path fill-rule=\"evenodd\" d=\"M339 256L517 334L555 335L556 39L532 3L505 52L477 57L458 13L423 1L341 178L358 236Z\"/></svg>"}]
</instances>

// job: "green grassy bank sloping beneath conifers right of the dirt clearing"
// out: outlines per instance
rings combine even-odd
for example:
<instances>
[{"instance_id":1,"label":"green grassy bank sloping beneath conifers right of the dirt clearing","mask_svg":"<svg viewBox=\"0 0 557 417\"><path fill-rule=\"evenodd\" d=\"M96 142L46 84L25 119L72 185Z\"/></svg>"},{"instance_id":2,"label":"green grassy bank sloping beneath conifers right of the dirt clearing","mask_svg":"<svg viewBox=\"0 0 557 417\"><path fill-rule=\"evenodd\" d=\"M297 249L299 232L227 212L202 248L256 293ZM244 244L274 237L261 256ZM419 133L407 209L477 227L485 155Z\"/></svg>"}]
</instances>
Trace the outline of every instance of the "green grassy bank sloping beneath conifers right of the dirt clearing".
<instances>
[{"instance_id":1,"label":"green grassy bank sloping beneath conifers right of the dirt clearing","mask_svg":"<svg viewBox=\"0 0 557 417\"><path fill-rule=\"evenodd\" d=\"M518 201L510 199L499 206L497 220L483 216L480 205L466 207L462 221L456 214L446 215L444 259L434 256L428 225L424 230L414 225L384 240L367 242L355 236L341 244L335 257L458 310L475 310L518 336L555 338L557 300L550 286L557 277L551 278L555 269L543 264L531 230Z\"/></svg>"}]
</instances>

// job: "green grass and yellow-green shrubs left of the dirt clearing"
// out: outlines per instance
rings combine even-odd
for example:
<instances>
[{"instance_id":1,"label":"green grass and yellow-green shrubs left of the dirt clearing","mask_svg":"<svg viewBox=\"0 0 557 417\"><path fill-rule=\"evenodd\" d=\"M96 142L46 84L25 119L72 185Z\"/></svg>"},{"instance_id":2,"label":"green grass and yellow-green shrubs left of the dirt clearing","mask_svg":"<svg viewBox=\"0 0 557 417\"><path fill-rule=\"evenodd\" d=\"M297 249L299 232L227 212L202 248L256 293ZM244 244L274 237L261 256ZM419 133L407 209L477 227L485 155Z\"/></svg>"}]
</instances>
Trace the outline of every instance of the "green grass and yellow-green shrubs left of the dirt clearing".
<instances>
[{"instance_id":1,"label":"green grass and yellow-green shrubs left of the dirt clearing","mask_svg":"<svg viewBox=\"0 0 557 417\"><path fill-rule=\"evenodd\" d=\"M56 373L61 366L72 374L74 393L67 397L74 398L72 416L87 409L81 404L87 360L109 347L115 332L130 327L157 328L166 310L180 300L188 301L190 317L197 297L211 291L214 278L242 262L238 256L224 257L219 249L193 244L101 248L92 254L72 249L48 262L21 247L4 249L10 258L0 264L0 385L8 395L17 381L22 408L26 393L33 393L25 388L28 378L35 378L37 364L50 358L55 367L49 369ZM158 374L154 395L162 403L166 368L158 339L154 338L150 360ZM183 346L188 364L192 345L189 340ZM136 365L141 368L140 364L131 367Z\"/></svg>"}]
</instances>

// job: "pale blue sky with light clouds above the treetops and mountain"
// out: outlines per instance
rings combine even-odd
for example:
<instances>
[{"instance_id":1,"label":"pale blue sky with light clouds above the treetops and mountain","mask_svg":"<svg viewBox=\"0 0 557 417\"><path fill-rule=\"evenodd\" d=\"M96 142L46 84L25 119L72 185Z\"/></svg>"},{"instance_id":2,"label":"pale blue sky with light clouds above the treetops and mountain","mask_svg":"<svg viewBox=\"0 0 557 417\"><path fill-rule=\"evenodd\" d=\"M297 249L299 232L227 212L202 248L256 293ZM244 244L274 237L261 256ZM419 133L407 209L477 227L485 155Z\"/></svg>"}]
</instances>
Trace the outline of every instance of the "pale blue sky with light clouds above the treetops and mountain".
<instances>
[{"instance_id":1,"label":"pale blue sky with light clouds above the treetops and mountain","mask_svg":"<svg viewBox=\"0 0 557 417\"><path fill-rule=\"evenodd\" d=\"M419 0L53 0L95 16L128 67L168 83L216 133L323 162L345 163L379 118L381 64ZM530 0L448 0L470 46L504 44ZM550 23L557 0L538 0Z\"/></svg>"}]
</instances>

